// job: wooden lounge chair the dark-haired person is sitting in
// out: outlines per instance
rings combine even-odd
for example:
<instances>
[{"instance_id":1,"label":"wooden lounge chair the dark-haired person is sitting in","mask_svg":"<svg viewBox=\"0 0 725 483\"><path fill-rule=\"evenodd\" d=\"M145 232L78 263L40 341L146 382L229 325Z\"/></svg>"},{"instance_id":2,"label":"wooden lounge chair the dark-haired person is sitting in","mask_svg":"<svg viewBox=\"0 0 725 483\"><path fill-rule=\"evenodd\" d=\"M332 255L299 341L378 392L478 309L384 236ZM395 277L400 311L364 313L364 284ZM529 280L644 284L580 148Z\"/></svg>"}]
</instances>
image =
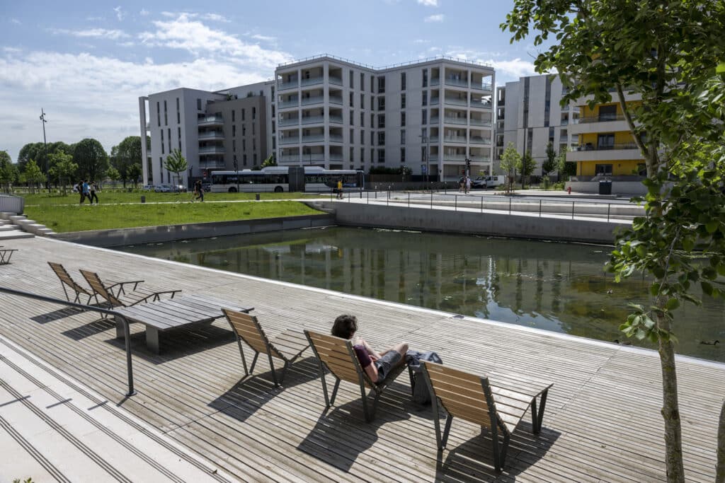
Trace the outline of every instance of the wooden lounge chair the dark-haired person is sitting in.
<instances>
[{"instance_id":1,"label":"wooden lounge chair the dark-haired person is sitting in","mask_svg":"<svg viewBox=\"0 0 725 483\"><path fill-rule=\"evenodd\" d=\"M360 394L363 396L363 411L365 412L365 421L370 422L375 418L375 411L378 408L378 400L396 377L405 369L405 364L400 364L391 369L390 374L383 382L373 382L368 373L365 372L360 361L357 359L355 350L349 340L335 337L334 335L320 334L305 330L307 340L310 340L312 350L315 351L320 364L320 379L322 380L322 389L325 392L326 407L330 407L335 403L337 389L341 380L352 382L360 385ZM332 390L332 397L328 398L327 384L325 382L325 370L335 377L335 387ZM368 395L365 394L365 387L370 387L374 392L373 407L368 411Z\"/></svg>"}]
</instances>

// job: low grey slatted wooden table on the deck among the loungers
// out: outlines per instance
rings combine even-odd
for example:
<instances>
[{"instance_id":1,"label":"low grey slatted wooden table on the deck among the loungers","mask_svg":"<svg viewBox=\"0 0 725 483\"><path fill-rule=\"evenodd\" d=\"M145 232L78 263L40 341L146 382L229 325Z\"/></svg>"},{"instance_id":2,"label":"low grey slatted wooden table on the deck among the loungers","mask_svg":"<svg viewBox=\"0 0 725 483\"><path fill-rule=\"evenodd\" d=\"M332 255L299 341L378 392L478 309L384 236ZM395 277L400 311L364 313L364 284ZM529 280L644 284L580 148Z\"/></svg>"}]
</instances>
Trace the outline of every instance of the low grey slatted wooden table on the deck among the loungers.
<instances>
[{"instance_id":1,"label":"low grey slatted wooden table on the deck among the loungers","mask_svg":"<svg viewBox=\"0 0 725 483\"><path fill-rule=\"evenodd\" d=\"M195 324L209 324L223 317L222 308L233 308L249 312L238 302L225 301L210 295L183 294L174 298L139 303L135 306L115 308L128 322L139 322L146 326L146 347L159 353L159 334L168 330L188 328ZM116 337L123 337L123 322L116 320Z\"/></svg>"}]
</instances>

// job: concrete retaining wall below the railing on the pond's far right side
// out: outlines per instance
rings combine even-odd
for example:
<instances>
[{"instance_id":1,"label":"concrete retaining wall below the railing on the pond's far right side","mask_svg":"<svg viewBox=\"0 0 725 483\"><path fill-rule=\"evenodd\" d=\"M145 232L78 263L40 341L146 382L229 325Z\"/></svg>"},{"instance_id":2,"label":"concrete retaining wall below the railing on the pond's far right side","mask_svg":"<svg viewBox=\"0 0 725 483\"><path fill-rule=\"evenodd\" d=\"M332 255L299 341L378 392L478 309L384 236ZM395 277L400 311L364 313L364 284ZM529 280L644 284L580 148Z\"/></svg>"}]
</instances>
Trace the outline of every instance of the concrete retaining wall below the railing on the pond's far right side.
<instances>
[{"instance_id":1,"label":"concrete retaining wall below the railing on the pond's far right side","mask_svg":"<svg viewBox=\"0 0 725 483\"><path fill-rule=\"evenodd\" d=\"M513 238L614 243L616 223L581 219L525 217L407 206L325 203L334 207L339 225L401 228Z\"/></svg>"}]
</instances>

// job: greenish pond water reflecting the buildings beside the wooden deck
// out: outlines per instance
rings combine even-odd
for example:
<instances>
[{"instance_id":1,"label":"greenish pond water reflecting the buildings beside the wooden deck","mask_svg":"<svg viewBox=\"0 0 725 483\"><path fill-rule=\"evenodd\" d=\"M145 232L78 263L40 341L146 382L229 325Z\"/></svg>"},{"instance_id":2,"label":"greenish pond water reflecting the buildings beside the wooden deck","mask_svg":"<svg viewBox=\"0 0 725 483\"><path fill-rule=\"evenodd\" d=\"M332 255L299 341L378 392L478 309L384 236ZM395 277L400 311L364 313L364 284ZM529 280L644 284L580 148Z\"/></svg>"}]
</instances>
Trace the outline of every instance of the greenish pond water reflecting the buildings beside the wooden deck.
<instances>
[{"instance_id":1,"label":"greenish pond water reflecting the buildings beside the wooden deck","mask_svg":"<svg viewBox=\"0 0 725 483\"><path fill-rule=\"evenodd\" d=\"M122 250L610 342L627 303L650 303L647 281L616 284L595 245L335 227ZM678 352L725 361L700 343L725 340L724 322L722 301L678 309Z\"/></svg>"}]
</instances>

